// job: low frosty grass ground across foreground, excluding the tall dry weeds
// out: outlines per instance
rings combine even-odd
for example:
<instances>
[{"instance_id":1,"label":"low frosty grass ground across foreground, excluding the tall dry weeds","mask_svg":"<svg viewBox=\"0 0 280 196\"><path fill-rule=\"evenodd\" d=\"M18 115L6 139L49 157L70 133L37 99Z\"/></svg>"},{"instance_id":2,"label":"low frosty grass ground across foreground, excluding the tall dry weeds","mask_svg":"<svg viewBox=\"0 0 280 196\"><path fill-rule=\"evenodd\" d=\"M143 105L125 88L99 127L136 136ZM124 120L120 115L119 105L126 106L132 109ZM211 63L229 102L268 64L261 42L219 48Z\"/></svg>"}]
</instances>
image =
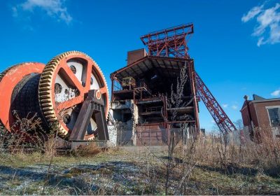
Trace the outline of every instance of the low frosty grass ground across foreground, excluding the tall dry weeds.
<instances>
[{"instance_id":1,"label":"low frosty grass ground across foreground, excluding the tall dry weeds","mask_svg":"<svg viewBox=\"0 0 280 196\"><path fill-rule=\"evenodd\" d=\"M0 195L164 195L167 148L111 148L97 155L1 155ZM172 175L169 193L181 179ZM188 195L279 195L280 179L253 168L225 175L197 164Z\"/></svg>"}]
</instances>

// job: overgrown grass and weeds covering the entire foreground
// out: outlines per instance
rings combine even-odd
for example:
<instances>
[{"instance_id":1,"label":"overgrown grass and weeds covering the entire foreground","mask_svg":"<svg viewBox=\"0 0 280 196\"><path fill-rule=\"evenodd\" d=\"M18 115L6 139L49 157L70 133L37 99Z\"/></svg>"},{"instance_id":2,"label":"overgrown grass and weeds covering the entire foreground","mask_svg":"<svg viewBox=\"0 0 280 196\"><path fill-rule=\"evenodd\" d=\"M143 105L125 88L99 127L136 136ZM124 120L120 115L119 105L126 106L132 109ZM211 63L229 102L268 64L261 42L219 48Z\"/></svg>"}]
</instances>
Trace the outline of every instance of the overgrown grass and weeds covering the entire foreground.
<instances>
[{"instance_id":1,"label":"overgrown grass and weeds covering the entire foreground","mask_svg":"<svg viewBox=\"0 0 280 196\"><path fill-rule=\"evenodd\" d=\"M171 160L169 194L279 195L279 140L268 129L258 137L259 142L241 143L214 135L185 145L176 141L172 157L164 146L91 144L68 155L57 154L53 144L48 152L1 151L0 194L163 195Z\"/></svg>"}]
</instances>

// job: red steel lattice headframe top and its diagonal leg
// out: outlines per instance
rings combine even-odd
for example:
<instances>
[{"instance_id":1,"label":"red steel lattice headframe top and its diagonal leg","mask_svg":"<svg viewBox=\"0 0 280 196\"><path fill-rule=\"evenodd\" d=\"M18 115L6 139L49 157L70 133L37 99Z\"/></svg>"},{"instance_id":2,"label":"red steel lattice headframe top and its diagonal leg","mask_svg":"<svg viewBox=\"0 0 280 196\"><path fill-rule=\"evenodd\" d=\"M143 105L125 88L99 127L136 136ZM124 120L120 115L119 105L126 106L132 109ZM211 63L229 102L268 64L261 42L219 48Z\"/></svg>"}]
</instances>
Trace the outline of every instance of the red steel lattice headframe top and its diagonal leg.
<instances>
[{"instance_id":1,"label":"red steel lattice headframe top and its diagonal leg","mask_svg":"<svg viewBox=\"0 0 280 196\"><path fill-rule=\"evenodd\" d=\"M193 23L189 23L146 34L141 36L141 41L148 47L148 54L151 56L190 59L187 43L193 33ZM213 94L211 94L209 88L195 72L193 64L188 65L191 84L194 84L192 87L193 94L200 96L221 132L227 133L237 130ZM194 105L197 108L196 96L194 96ZM198 114L196 115L197 127L199 127Z\"/></svg>"}]
</instances>

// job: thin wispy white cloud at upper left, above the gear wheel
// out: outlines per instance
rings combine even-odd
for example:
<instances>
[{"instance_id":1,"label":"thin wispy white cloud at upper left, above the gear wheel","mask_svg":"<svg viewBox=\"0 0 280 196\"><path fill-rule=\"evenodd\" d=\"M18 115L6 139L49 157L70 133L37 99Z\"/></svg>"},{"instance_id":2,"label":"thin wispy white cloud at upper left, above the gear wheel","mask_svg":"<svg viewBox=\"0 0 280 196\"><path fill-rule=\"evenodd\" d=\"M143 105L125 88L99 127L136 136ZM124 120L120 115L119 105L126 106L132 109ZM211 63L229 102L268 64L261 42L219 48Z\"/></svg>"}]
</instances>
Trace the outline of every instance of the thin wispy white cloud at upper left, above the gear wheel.
<instances>
[{"instance_id":1,"label":"thin wispy white cloud at upper left, above the gear wheel","mask_svg":"<svg viewBox=\"0 0 280 196\"><path fill-rule=\"evenodd\" d=\"M13 6L13 17L20 17L20 12L34 13L34 9L43 10L43 13L59 21L69 24L73 18L64 6L64 0L25 0L23 3Z\"/></svg>"}]
</instances>

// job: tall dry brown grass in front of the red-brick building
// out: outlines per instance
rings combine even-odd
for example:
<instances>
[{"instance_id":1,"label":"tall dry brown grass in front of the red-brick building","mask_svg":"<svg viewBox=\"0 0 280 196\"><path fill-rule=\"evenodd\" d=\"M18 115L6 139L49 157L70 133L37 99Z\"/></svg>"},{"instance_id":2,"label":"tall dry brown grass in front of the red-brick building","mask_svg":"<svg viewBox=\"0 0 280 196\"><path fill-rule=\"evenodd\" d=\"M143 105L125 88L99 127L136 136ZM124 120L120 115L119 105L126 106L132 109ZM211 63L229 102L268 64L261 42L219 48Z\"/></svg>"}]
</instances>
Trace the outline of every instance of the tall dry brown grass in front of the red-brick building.
<instances>
[{"instance_id":1,"label":"tall dry brown grass in front of the red-brick building","mask_svg":"<svg viewBox=\"0 0 280 196\"><path fill-rule=\"evenodd\" d=\"M200 136L196 140L188 140L187 145L179 143L176 146L176 158L187 159L188 162L197 162L199 165L207 165L222 169L225 174L235 172L242 168L262 169L269 175L280 175L280 141L274 138L269 128L262 128L258 132L259 142L249 139L237 141L225 139L222 135ZM193 153L190 152L193 148ZM188 155L184 155L187 151ZM190 155L193 157L190 158Z\"/></svg>"}]
</instances>

